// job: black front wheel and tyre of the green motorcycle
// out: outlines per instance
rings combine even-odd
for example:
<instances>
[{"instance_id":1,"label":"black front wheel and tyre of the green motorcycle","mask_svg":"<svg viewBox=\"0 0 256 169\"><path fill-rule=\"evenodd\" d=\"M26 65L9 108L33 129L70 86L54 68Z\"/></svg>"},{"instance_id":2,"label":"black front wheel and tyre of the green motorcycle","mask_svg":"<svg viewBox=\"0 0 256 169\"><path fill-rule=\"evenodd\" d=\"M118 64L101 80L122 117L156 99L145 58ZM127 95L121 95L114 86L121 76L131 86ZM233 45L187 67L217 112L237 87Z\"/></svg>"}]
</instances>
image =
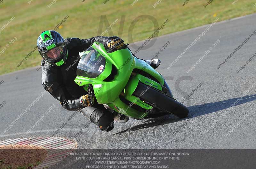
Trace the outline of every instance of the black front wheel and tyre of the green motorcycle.
<instances>
[{"instance_id":1,"label":"black front wheel and tyre of the green motorcycle","mask_svg":"<svg viewBox=\"0 0 256 169\"><path fill-rule=\"evenodd\" d=\"M142 93L144 94L142 95ZM177 102L173 98L165 95L164 93L154 89L153 87L149 88L149 86L141 82L139 82L136 90L133 92L132 95L135 95L137 97L141 95L141 100L144 100L145 102L148 102L151 105L155 105L155 107L160 110L172 113L173 115L178 116L179 118L185 118L188 116L188 108L186 106L184 106L180 102Z\"/></svg>"}]
</instances>

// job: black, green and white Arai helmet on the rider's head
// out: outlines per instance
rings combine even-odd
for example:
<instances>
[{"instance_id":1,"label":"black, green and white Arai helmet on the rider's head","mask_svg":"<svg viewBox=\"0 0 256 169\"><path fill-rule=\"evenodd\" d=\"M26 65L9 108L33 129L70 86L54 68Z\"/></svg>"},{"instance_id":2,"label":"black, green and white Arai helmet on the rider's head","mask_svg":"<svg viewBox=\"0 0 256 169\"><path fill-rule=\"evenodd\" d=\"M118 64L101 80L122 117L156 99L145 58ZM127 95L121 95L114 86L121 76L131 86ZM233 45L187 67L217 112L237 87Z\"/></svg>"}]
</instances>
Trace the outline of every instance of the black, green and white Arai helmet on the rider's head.
<instances>
[{"instance_id":1,"label":"black, green and white Arai helmet on the rider's head","mask_svg":"<svg viewBox=\"0 0 256 169\"><path fill-rule=\"evenodd\" d=\"M68 57L64 39L56 31L42 32L37 39L37 49L44 60L52 66L63 65Z\"/></svg>"}]
</instances>

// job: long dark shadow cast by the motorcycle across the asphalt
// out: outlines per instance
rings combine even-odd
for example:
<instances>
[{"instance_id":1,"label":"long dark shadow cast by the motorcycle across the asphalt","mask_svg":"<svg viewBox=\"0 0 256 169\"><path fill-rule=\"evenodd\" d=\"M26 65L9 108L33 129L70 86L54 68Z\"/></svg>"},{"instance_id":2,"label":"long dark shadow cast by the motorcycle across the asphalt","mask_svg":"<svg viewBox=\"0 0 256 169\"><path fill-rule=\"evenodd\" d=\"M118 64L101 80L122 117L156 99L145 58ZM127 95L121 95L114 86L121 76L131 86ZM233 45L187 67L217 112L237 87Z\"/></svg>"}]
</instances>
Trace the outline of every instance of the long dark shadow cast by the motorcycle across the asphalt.
<instances>
[{"instance_id":1,"label":"long dark shadow cast by the motorcycle across the asphalt","mask_svg":"<svg viewBox=\"0 0 256 169\"><path fill-rule=\"evenodd\" d=\"M256 95L247 95L247 96L241 97L241 99L239 99L239 98L240 97L233 98L233 99L228 99L228 100L223 100L223 101L219 101L219 102L213 102L213 103L211 102L211 103L206 103L206 104L189 106L188 107L189 114L188 114L188 117L186 117L186 118L179 119L178 117L176 117L174 115L166 114L166 115L163 115L161 117L146 120L142 124L133 126L131 128L125 129L125 130L120 131L120 132L115 133L115 134L120 134L120 133L124 133L124 132L140 130L140 129L145 129L145 128L149 128L149 127L169 124L169 123L174 123L174 122L178 122L178 121L187 120L187 119L190 119L190 118L193 118L193 117L206 115L206 114L213 113L213 112L216 112L216 111L220 111L220 110L223 110L223 109L228 109L235 102L237 102L236 105L235 105L235 106L237 106L237 105L240 105L240 104L244 104L244 103L256 100Z\"/></svg>"}]
</instances>

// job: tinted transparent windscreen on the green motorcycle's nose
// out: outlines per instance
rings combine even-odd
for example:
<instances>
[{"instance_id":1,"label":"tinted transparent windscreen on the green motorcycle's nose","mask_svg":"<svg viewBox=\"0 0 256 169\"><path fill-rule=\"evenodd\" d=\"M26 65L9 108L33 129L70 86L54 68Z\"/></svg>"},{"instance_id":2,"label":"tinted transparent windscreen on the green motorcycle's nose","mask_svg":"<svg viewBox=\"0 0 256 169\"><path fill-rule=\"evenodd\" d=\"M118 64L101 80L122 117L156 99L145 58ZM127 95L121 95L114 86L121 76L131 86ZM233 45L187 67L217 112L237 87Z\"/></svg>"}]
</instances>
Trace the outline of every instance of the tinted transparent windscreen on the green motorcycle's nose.
<instances>
[{"instance_id":1,"label":"tinted transparent windscreen on the green motorcycle's nose","mask_svg":"<svg viewBox=\"0 0 256 169\"><path fill-rule=\"evenodd\" d=\"M86 51L78 63L76 74L96 78L105 70L105 65L106 59L95 49Z\"/></svg>"}]
</instances>

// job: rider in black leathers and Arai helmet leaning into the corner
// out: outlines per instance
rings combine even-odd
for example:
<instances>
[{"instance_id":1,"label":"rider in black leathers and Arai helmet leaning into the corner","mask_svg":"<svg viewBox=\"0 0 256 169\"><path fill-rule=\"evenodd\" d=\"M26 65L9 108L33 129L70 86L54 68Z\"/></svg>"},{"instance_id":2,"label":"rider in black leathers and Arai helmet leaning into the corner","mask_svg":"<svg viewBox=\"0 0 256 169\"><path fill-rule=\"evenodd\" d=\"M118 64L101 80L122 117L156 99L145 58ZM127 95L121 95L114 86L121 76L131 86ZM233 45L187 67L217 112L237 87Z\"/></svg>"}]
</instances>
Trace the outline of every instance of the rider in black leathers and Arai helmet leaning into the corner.
<instances>
[{"instance_id":1,"label":"rider in black leathers and Arai helmet leaning into the corner","mask_svg":"<svg viewBox=\"0 0 256 169\"><path fill-rule=\"evenodd\" d=\"M98 104L92 93L87 93L74 82L78 65L78 61L74 61L79 60L79 52L85 51L93 42L100 42L106 49L113 51L124 46L124 41L117 36L63 39L56 31L42 32L37 39L37 48L43 57L41 62L42 85L55 99L60 101L64 109L79 110L92 123L99 126L100 130L110 131L114 128L113 113L102 104ZM145 61L153 68L160 65L158 59ZM116 117L123 120L126 116Z\"/></svg>"}]
</instances>

